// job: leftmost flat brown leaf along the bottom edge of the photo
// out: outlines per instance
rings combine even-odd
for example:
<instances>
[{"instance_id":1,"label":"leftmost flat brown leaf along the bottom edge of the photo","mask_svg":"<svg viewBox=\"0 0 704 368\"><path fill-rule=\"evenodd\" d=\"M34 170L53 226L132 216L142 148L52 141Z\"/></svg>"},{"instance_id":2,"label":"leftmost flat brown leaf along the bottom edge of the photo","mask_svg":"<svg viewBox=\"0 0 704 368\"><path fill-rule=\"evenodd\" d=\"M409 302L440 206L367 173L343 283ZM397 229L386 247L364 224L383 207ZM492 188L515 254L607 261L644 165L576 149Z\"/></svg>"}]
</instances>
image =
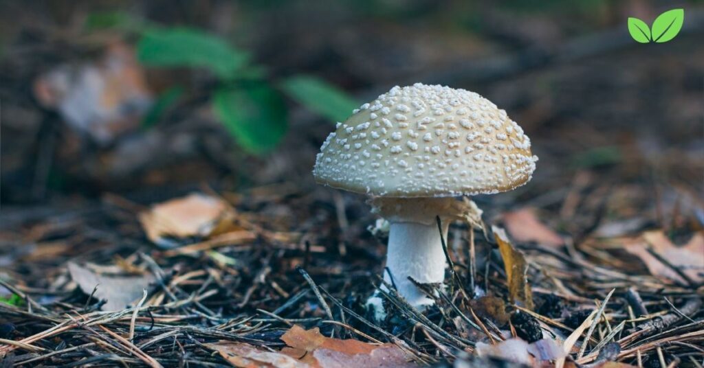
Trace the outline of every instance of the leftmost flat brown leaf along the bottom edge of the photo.
<instances>
[{"instance_id":1,"label":"leftmost flat brown leaf along the bottom edge of the photo","mask_svg":"<svg viewBox=\"0 0 704 368\"><path fill-rule=\"evenodd\" d=\"M256 348L247 343L219 341L206 343L206 347L220 353L234 367L241 368L310 368L309 364L300 362L289 355Z\"/></svg>"}]
</instances>

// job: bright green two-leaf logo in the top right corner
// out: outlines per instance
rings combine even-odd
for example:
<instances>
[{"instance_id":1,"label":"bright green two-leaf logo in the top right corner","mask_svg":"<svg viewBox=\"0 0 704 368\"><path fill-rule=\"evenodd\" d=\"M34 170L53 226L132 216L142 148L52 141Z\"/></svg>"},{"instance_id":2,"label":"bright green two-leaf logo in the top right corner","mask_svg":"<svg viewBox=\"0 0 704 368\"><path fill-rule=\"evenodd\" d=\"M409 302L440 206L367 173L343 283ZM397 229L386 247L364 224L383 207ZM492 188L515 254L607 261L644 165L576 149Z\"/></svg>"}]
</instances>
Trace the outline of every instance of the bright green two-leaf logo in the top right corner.
<instances>
[{"instance_id":1,"label":"bright green two-leaf logo in the top right corner","mask_svg":"<svg viewBox=\"0 0 704 368\"><path fill-rule=\"evenodd\" d=\"M674 39L684 24L684 9L672 9L658 15L652 29L638 18L628 18L628 32L641 44L668 42Z\"/></svg>"}]
</instances>

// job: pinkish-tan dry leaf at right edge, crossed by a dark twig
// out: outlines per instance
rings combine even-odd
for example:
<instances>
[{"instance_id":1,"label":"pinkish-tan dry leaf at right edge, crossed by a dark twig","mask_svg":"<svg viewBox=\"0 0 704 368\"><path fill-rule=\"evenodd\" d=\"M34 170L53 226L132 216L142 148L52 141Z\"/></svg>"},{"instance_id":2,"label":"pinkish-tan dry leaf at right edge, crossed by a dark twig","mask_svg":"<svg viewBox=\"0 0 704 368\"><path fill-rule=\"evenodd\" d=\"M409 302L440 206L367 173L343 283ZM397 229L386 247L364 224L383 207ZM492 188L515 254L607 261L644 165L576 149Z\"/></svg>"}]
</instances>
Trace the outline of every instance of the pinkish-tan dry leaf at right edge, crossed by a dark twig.
<instances>
[{"instance_id":1,"label":"pinkish-tan dry leaf at right edge, crossed by a dark twig","mask_svg":"<svg viewBox=\"0 0 704 368\"><path fill-rule=\"evenodd\" d=\"M640 258L650 274L668 279L686 282L672 268L663 264L648 252L653 248L662 258L674 267L681 269L690 279L697 283L704 282L704 234L698 232L684 246L677 246L661 230L646 231L636 239L625 242L625 249Z\"/></svg>"}]
</instances>

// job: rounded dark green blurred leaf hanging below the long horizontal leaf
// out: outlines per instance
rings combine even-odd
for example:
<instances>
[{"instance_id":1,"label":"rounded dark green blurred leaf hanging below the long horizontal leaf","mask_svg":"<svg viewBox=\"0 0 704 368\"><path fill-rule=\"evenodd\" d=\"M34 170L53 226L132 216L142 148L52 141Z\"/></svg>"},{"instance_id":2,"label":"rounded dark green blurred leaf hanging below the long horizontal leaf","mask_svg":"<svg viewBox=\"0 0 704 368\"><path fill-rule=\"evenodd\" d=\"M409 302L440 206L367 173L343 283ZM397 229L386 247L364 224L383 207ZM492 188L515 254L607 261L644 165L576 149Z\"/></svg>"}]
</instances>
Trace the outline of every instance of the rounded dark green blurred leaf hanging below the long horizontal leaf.
<instances>
[{"instance_id":1,"label":"rounded dark green blurred leaf hanging below the long horizontal leaf","mask_svg":"<svg viewBox=\"0 0 704 368\"><path fill-rule=\"evenodd\" d=\"M221 88L215 92L213 107L227 131L249 153L270 151L286 134L284 99L268 84Z\"/></svg>"}]
</instances>

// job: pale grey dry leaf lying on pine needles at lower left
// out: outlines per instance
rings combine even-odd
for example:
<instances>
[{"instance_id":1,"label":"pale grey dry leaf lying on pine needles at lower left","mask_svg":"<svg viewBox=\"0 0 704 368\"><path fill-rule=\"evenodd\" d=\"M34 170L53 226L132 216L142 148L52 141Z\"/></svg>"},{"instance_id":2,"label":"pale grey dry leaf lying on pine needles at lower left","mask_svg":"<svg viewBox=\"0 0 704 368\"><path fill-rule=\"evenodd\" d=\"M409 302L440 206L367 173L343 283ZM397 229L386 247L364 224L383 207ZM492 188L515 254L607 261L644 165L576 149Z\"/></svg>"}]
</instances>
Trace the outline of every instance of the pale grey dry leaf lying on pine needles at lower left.
<instances>
[{"instance_id":1,"label":"pale grey dry leaf lying on pine needles at lower left","mask_svg":"<svg viewBox=\"0 0 704 368\"><path fill-rule=\"evenodd\" d=\"M141 298L144 290L149 290L149 285L154 281L152 274L136 277L103 275L73 262L68 264L68 272L84 293L90 295L95 290L94 298L106 300L101 307L106 311L125 309Z\"/></svg>"}]
</instances>

